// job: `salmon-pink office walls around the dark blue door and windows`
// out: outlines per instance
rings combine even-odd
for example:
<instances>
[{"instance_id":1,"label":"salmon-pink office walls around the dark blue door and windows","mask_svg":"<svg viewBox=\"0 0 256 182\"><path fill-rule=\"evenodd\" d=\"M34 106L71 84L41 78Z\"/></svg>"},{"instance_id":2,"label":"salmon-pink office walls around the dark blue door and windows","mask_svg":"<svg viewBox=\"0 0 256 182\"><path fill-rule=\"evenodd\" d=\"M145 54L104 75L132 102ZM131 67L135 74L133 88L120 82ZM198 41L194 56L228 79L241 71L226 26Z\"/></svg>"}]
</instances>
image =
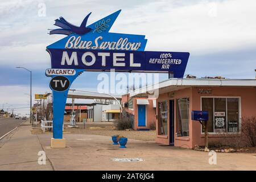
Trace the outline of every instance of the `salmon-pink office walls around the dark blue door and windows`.
<instances>
[{"instance_id":1,"label":"salmon-pink office walls around the dark blue door and windows","mask_svg":"<svg viewBox=\"0 0 256 182\"><path fill-rule=\"evenodd\" d=\"M177 119L176 119L176 99L189 97L189 137L176 137L174 139L174 145L184 148L193 148L197 145L204 145L204 135L201 134L201 124L191 120L192 110L201 110L201 96L218 96L218 97L241 97L241 116L250 117L256 116L256 88L249 87L200 87L200 89L212 89L212 94L199 94L199 87L191 87L186 89L177 90L174 92L173 97L168 97L167 93L160 94L156 100L158 108L158 102L174 100L174 130L177 132ZM168 104L168 135L157 135L156 142L162 144L169 144L170 142L170 105ZM158 119L156 119L156 131L158 132ZM209 141L215 139L216 136L209 135Z\"/></svg>"}]
</instances>

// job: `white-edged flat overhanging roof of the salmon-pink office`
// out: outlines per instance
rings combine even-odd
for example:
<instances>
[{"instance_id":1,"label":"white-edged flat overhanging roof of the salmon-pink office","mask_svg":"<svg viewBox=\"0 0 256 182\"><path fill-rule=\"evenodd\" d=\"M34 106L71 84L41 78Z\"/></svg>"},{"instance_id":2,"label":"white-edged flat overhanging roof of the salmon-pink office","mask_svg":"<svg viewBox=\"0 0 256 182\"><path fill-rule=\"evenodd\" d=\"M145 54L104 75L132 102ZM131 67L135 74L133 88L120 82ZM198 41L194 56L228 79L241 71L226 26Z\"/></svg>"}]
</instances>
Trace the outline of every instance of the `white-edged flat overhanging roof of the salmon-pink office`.
<instances>
[{"instance_id":1,"label":"white-edged flat overhanging roof of the salmon-pink office","mask_svg":"<svg viewBox=\"0 0 256 182\"><path fill-rule=\"evenodd\" d=\"M256 79L218 79L218 78L170 78L158 84L148 85L130 92L130 97L147 97L167 93L191 86L249 86L256 87Z\"/></svg>"}]
</instances>

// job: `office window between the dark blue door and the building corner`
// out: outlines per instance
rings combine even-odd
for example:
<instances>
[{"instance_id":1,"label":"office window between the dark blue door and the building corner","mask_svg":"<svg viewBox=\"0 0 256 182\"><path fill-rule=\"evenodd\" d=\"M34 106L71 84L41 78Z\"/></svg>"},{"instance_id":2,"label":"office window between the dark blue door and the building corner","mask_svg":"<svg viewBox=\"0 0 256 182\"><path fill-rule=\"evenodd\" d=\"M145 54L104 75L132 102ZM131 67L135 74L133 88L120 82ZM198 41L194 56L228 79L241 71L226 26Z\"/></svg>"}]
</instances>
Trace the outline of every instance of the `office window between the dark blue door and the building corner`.
<instances>
[{"instance_id":1,"label":"office window between the dark blue door and the building corner","mask_svg":"<svg viewBox=\"0 0 256 182\"><path fill-rule=\"evenodd\" d=\"M189 98L177 100L177 118L179 136L189 136Z\"/></svg>"}]
</instances>

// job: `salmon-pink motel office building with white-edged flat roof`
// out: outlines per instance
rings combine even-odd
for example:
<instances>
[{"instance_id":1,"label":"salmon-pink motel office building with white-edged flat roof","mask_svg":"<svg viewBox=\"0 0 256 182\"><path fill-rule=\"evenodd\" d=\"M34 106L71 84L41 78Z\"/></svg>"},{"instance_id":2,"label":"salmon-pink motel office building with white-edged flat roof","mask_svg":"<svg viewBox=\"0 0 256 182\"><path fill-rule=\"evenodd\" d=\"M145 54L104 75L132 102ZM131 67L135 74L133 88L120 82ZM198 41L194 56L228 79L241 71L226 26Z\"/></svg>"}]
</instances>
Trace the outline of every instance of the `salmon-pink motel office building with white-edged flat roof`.
<instances>
[{"instance_id":1,"label":"salmon-pink motel office building with white-edged flat roof","mask_svg":"<svg viewBox=\"0 0 256 182\"><path fill-rule=\"evenodd\" d=\"M148 87L150 88L150 87ZM148 91L130 93L147 97ZM192 110L209 112L209 142L218 133L240 133L242 117L256 116L256 80L171 78L159 83L156 142L193 148L204 146L204 130L192 121Z\"/></svg>"}]
</instances>

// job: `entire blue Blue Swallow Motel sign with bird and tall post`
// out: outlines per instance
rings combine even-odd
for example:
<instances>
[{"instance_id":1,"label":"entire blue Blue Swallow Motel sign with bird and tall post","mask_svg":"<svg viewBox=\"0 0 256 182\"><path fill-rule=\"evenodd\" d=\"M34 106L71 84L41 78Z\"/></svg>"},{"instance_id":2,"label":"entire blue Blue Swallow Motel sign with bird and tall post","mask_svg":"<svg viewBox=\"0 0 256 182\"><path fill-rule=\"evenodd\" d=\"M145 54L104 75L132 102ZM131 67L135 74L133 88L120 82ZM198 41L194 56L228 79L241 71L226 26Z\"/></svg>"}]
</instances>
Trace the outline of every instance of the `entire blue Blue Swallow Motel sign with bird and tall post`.
<instances>
[{"instance_id":1,"label":"entire blue Blue Swallow Motel sign with bird and tall post","mask_svg":"<svg viewBox=\"0 0 256 182\"><path fill-rule=\"evenodd\" d=\"M74 26L63 17L55 20L55 30L49 34L67 35L47 46L51 68L46 76L52 77L53 138L63 137L62 125L68 89L84 71L157 72L183 77L188 52L144 51L144 35L109 32L121 10L86 26L88 14L80 26Z\"/></svg>"}]
</instances>

